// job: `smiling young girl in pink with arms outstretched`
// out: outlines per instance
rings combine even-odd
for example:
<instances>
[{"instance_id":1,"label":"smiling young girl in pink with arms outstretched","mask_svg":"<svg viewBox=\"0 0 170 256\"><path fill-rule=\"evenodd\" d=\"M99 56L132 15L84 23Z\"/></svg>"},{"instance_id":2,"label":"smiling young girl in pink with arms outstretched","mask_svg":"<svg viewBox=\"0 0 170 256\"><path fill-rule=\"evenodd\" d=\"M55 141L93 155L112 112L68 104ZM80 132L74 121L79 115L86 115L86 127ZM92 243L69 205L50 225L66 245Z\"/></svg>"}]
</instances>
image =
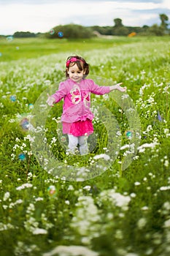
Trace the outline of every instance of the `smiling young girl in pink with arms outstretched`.
<instances>
[{"instance_id":1,"label":"smiling young girl in pink with arms outstretched","mask_svg":"<svg viewBox=\"0 0 170 256\"><path fill-rule=\"evenodd\" d=\"M88 154L88 135L93 133L93 113L90 111L90 93L108 94L112 90L126 91L122 83L115 86L98 86L93 80L85 79L89 73L89 64L80 56L69 56L66 60L66 80L61 82L58 91L49 95L47 104L64 99L61 116L63 134L69 137L68 153L74 154L79 145L80 154Z\"/></svg>"}]
</instances>

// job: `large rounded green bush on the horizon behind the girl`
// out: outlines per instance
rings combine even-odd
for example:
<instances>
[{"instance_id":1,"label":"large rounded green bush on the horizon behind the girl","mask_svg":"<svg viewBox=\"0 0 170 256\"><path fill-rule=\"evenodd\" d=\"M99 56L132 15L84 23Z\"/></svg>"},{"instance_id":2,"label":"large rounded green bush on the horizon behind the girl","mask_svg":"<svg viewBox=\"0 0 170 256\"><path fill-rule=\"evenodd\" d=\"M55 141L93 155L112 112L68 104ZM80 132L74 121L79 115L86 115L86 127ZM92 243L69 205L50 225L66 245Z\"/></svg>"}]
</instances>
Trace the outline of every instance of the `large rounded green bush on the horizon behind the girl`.
<instances>
[{"instance_id":1,"label":"large rounded green bush on the horizon behind the girl","mask_svg":"<svg viewBox=\"0 0 170 256\"><path fill-rule=\"evenodd\" d=\"M58 32L61 32L58 34ZM53 29L45 33L45 37L55 39L55 38L90 38L94 37L93 30L77 25L77 24L68 24L68 25L60 25L55 26Z\"/></svg>"}]
</instances>

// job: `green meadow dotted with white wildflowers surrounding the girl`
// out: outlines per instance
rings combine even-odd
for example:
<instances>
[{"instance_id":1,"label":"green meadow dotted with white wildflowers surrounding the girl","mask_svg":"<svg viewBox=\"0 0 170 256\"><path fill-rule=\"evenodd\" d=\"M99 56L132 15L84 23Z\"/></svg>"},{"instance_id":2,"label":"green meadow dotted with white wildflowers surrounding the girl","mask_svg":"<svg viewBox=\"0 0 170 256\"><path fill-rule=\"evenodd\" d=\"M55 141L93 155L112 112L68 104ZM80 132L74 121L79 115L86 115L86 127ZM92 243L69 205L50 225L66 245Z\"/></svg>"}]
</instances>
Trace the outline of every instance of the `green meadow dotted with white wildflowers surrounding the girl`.
<instances>
[{"instance_id":1,"label":"green meadow dotted with white wildflowers surrounding the girl","mask_svg":"<svg viewBox=\"0 0 170 256\"><path fill-rule=\"evenodd\" d=\"M169 37L0 39L0 53L0 255L168 256ZM72 54L99 85L127 87L93 95L83 157L66 155L63 102L46 104Z\"/></svg>"}]
</instances>

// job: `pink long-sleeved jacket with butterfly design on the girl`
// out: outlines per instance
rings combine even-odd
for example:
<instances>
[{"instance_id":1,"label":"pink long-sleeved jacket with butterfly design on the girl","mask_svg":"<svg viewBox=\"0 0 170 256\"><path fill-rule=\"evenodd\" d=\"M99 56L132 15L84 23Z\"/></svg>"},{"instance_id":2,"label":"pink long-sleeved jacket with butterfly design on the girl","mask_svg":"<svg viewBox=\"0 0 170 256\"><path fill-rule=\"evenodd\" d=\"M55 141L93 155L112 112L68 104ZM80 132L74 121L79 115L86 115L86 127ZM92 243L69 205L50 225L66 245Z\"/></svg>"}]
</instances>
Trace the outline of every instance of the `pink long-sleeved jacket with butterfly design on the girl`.
<instances>
[{"instance_id":1,"label":"pink long-sleeved jacket with butterfly design on the girl","mask_svg":"<svg viewBox=\"0 0 170 256\"><path fill-rule=\"evenodd\" d=\"M98 86L90 79L83 79L79 84L68 79L60 83L58 91L51 97L55 98L55 103L64 99L61 121L73 123L85 121L87 118L93 119L93 113L90 111L90 93L103 95L109 91L109 86Z\"/></svg>"}]
</instances>

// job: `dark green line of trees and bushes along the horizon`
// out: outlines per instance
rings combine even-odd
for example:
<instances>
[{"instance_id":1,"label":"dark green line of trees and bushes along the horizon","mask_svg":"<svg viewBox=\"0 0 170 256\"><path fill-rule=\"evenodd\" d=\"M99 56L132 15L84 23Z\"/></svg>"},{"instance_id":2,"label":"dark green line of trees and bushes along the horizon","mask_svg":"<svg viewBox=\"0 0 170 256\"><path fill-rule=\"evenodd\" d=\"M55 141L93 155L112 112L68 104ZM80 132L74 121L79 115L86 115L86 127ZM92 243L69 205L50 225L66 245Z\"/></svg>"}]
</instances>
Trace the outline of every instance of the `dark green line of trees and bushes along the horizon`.
<instances>
[{"instance_id":1,"label":"dark green line of trees and bushes along the horizon","mask_svg":"<svg viewBox=\"0 0 170 256\"><path fill-rule=\"evenodd\" d=\"M115 18L114 26L81 26L74 23L67 25L55 26L46 33L31 33L29 31L17 31L13 37L46 37L50 39L60 38L91 38L98 35L112 35L112 36L163 36L170 35L169 17L166 14L160 14L161 24L153 24L152 26L124 26L120 18Z\"/></svg>"}]
</instances>

